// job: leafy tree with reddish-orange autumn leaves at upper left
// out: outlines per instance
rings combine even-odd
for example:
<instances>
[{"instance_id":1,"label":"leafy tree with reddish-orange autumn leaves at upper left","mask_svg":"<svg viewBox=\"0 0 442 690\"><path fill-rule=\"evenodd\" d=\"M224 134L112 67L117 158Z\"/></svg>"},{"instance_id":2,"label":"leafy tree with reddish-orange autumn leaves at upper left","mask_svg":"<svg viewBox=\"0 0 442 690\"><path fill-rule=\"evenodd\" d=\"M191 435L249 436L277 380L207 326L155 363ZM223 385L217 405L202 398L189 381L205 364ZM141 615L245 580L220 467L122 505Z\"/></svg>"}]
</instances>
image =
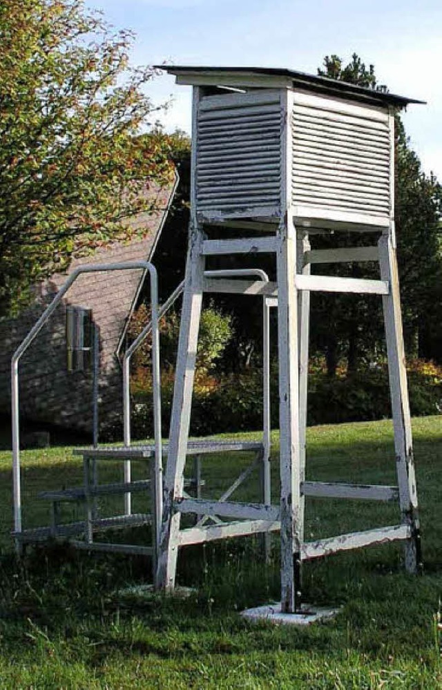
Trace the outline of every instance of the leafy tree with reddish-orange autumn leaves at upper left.
<instances>
[{"instance_id":1,"label":"leafy tree with reddish-orange autumn leaves at upper left","mask_svg":"<svg viewBox=\"0 0 442 690\"><path fill-rule=\"evenodd\" d=\"M0 3L0 316L73 256L128 237L171 176L167 142L140 136L150 68L132 35L83 0Z\"/></svg>"}]
</instances>

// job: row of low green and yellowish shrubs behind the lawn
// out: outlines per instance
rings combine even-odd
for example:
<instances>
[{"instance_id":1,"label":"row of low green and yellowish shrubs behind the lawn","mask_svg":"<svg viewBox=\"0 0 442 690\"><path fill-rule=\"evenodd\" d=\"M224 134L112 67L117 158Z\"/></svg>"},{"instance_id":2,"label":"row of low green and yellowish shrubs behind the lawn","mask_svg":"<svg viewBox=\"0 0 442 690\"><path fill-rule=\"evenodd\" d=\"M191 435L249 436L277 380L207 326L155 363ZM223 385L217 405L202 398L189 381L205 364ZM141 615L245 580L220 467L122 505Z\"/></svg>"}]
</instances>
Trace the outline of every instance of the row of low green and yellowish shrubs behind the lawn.
<instances>
[{"instance_id":1,"label":"row of low green and yellowish shrubs behind the lawn","mask_svg":"<svg viewBox=\"0 0 442 690\"><path fill-rule=\"evenodd\" d=\"M407 365L410 406L414 416L438 414L442 409L442 367L422 360ZM169 431L175 372L162 372L163 431ZM152 432L151 379L137 374L134 379L135 410L133 433ZM278 370L271 367L271 425L278 427ZM338 367L327 376L318 358L309 367L309 425L384 419L391 416L386 363L378 363L354 374ZM220 378L197 370L193 390L191 434L204 435L262 429L262 370L254 368Z\"/></svg>"}]
</instances>

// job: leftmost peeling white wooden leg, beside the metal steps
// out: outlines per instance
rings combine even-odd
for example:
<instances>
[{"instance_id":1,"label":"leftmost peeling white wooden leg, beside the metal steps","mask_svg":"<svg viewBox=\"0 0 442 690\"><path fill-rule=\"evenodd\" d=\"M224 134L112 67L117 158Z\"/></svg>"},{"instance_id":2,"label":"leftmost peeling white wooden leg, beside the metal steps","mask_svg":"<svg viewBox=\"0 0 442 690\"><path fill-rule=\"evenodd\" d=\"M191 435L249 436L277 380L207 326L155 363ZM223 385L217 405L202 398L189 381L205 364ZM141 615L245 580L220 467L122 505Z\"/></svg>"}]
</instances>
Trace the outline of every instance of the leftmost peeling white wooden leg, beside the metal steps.
<instances>
[{"instance_id":1,"label":"leftmost peeling white wooden leg, beside the metal steps","mask_svg":"<svg viewBox=\"0 0 442 690\"><path fill-rule=\"evenodd\" d=\"M165 590L173 590L175 586L180 512L173 513L173 501L182 495L203 279L202 229L195 224L191 226L189 238L180 340L173 390L169 456L164 481L164 508L156 584L157 587Z\"/></svg>"}]
</instances>

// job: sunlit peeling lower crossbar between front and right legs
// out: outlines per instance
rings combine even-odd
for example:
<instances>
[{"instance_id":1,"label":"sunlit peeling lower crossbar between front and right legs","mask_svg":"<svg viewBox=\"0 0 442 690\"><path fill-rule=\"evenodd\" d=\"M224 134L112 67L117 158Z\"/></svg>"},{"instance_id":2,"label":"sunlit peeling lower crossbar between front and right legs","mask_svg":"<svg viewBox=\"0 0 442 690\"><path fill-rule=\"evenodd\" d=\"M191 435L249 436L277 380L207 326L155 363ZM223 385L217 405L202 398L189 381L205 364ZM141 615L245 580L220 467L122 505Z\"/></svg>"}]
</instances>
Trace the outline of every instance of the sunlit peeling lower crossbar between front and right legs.
<instances>
[{"instance_id":1,"label":"sunlit peeling lower crossbar between front and right legs","mask_svg":"<svg viewBox=\"0 0 442 690\"><path fill-rule=\"evenodd\" d=\"M338 551L348 551L353 548L371 546L372 544L387 544L400 539L409 539L410 532L410 526L394 525L366 530L365 532L340 535L339 537L329 537L329 539L320 539L318 542L306 542L302 546L302 559L319 558L332 553L338 553Z\"/></svg>"}]
</instances>

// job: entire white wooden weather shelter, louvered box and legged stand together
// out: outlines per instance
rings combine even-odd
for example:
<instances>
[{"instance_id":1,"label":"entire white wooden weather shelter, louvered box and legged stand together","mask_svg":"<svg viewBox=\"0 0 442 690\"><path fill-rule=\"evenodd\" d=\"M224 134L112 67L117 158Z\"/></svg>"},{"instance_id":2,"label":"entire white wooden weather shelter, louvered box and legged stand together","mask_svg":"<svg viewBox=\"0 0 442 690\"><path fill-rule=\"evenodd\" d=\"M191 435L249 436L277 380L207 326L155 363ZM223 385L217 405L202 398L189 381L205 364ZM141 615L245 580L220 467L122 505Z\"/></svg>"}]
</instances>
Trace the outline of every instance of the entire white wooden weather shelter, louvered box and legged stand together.
<instances>
[{"instance_id":1,"label":"entire white wooden weather shelter, louvered box and legged stand together","mask_svg":"<svg viewBox=\"0 0 442 690\"><path fill-rule=\"evenodd\" d=\"M226 93L217 90L210 70L198 75L190 68L171 71L182 83L194 85L191 226L157 586L166 590L175 586L180 546L280 530L279 613L299 614L302 562L307 559L403 540L407 571L416 572L421 561L394 235L394 113L388 95L368 92L363 105L357 100L359 93L336 95L330 88L325 97L318 96L313 89L309 93L299 75L292 87L282 83L280 75L274 82L277 88L269 88L269 75L258 78L244 70L238 76L225 68L227 76L220 83L235 86L233 93L223 87ZM221 79L220 75L217 73L216 78ZM242 91L236 93L239 86ZM209 238L214 225L218 236L222 229L222 239ZM370 232L380 239L372 247L311 250L309 235L330 231ZM276 282L204 276L208 256L242 255L250 269L256 253L273 254ZM366 261L378 262L378 280L314 275L310 271L314 264ZM397 486L305 481L311 291L382 297ZM260 295L266 298L267 306L278 308L278 505L271 504L269 486L262 501L255 504L200 499L197 506L183 495L204 292ZM306 496L398 501L401 519L384 528L305 542ZM196 531L182 530L180 517L184 512L212 515L218 522Z\"/></svg>"}]
</instances>

